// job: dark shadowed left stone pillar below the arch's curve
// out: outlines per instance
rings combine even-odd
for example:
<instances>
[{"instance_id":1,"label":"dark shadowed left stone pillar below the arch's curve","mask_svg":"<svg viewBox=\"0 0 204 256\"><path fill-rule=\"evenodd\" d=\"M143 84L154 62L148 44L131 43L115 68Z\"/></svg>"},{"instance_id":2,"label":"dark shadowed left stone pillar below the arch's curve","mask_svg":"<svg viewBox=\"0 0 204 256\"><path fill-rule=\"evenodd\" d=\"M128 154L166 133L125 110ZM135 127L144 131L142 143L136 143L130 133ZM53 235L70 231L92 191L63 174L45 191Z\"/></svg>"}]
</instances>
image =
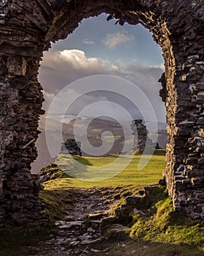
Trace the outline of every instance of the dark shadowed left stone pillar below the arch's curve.
<instances>
[{"instance_id":1,"label":"dark shadowed left stone pillar below the arch's curve","mask_svg":"<svg viewBox=\"0 0 204 256\"><path fill-rule=\"evenodd\" d=\"M38 61L24 56L0 57L0 222L46 223L39 200L38 176L31 175L42 108L42 86L36 80Z\"/></svg>"}]
</instances>

